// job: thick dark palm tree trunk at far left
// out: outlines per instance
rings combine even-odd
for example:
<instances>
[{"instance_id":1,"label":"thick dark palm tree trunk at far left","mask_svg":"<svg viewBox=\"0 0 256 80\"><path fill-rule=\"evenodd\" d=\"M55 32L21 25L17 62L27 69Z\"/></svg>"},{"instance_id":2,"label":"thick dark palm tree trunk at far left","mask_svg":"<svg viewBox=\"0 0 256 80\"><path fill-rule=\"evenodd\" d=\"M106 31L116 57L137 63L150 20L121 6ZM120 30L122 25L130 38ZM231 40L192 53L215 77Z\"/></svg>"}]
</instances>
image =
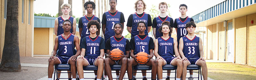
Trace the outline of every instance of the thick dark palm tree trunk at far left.
<instances>
[{"instance_id":1,"label":"thick dark palm tree trunk at far left","mask_svg":"<svg viewBox=\"0 0 256 80\"><path fill-rule=\"evenodd\" d=\"M20 49L19 49L19 0L8 0L6 25L4 35L4 49L0 71L20 72Z\"/></svg>"}]
</instances>

